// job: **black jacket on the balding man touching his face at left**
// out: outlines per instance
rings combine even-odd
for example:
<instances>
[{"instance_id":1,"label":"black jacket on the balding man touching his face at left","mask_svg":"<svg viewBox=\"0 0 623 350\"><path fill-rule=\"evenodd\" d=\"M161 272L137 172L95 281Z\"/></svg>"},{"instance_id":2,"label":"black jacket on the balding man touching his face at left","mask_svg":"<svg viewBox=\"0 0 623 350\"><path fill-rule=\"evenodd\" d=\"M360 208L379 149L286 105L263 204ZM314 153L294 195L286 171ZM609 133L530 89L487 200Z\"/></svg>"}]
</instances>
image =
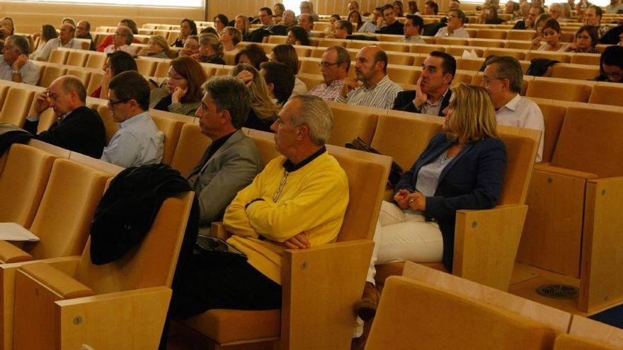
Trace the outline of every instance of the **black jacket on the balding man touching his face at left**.
<instances>
[{"instance_id":1,"label":"black jacket on the balding man touching his face at left","mask_svg":"<svg viewBox=\"0 0 623 350\"><path fill-rule=\"evenodd\" d=\"M35 135L35 139L59 146L69 151L85 154L93 158L101 158L106 145L106 132L102 118L98 112L82 106L73 110L63 121L55 122L46 132L37 134L39 122L28 119L24 129Z\"/></svg>"}]
</instances>

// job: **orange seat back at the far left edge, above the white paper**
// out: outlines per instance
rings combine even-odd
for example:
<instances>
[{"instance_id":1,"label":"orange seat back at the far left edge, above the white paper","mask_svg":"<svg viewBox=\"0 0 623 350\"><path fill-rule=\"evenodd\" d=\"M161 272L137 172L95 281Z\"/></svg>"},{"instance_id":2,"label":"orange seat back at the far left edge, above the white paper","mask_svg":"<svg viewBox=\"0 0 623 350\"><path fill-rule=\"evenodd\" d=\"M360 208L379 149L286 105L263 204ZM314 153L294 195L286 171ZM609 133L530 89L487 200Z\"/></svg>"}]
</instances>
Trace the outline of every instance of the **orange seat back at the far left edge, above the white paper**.
<instances>
[{"instance_id":1,"label":"orange seat back at the far left edge, above the white paper","mask_svg":"<svg viewBox=\"0 0 623 350\"><path fill-rule=\"evenodd\" d=\"M32 146L11 146L0 173L0 222L30 228L56 158Z\"/></svg>"}]
</instances>

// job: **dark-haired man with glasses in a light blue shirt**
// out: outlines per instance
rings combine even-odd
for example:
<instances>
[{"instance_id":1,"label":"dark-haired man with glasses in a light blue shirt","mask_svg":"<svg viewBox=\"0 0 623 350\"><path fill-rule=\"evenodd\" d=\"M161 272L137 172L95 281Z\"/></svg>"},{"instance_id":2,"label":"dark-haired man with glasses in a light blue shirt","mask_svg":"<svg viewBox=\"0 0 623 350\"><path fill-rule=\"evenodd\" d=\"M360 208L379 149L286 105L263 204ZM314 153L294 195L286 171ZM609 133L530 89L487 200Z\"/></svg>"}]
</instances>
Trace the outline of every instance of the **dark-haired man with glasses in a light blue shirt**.
<instances>
[{"instance_id":1,"label":"dark-haired man with glasses in a light blue shirt","mask_svg":"<svg viewBox=\"0 0 623 350\"><path fill-rule=\"evenodd\" d=\"M102 153L102 160L129 168L162 160L164 134L149 117L149 83L137 71L124 71L108 85L108 110L119 131Z\"/></svg>"}]
</instances>

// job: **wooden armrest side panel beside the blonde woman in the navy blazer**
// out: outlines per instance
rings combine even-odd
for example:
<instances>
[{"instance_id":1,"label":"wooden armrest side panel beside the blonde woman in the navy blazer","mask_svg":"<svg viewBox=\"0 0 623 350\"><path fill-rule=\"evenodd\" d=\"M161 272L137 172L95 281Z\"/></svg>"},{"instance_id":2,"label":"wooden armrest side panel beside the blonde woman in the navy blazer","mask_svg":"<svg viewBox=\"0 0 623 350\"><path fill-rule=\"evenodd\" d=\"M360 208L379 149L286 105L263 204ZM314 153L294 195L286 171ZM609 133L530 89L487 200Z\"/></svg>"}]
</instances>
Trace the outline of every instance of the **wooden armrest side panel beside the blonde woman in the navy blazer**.
<instances>
[{"instance_id":1,"label":"wooden armrest side panel beside the blonde woman in the navy blazer","mask_svg":"<svg viewBox=\"0 0 623 350\"><path fill-rule=\"evenodd\" d=\"M506 291L515 266L527 205L459 210L452 274Z\"/></svg>"}]
</instances>

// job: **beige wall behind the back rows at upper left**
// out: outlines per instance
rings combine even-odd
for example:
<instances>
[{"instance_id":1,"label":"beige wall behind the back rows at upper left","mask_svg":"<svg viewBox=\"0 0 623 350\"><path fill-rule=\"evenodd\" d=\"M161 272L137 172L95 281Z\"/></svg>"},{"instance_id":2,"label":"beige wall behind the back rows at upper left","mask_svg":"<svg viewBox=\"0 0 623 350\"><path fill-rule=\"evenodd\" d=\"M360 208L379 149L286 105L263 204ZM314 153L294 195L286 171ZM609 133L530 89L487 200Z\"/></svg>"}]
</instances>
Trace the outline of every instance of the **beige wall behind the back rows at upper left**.
<instances>
[{"instance_id":1,"label":"beige wall behind the back rows at upper left","mask_svg":"<svg viewBox=\"0 0 623 350\"><path fill-rule=\"evenodd\" d=\"M235 3L237 0L219 2ZM76 21L89 21L92 30L95 30L98 25L117 25L122 18L132 18L140 28L143 23L180 23L182 18L202 20L203 8L33 4L2 1L0 2L0 16L13 18L18 33L37 33L42 24L59 26L64 17L72 17Z\"/></svg>"}]
</instances>

